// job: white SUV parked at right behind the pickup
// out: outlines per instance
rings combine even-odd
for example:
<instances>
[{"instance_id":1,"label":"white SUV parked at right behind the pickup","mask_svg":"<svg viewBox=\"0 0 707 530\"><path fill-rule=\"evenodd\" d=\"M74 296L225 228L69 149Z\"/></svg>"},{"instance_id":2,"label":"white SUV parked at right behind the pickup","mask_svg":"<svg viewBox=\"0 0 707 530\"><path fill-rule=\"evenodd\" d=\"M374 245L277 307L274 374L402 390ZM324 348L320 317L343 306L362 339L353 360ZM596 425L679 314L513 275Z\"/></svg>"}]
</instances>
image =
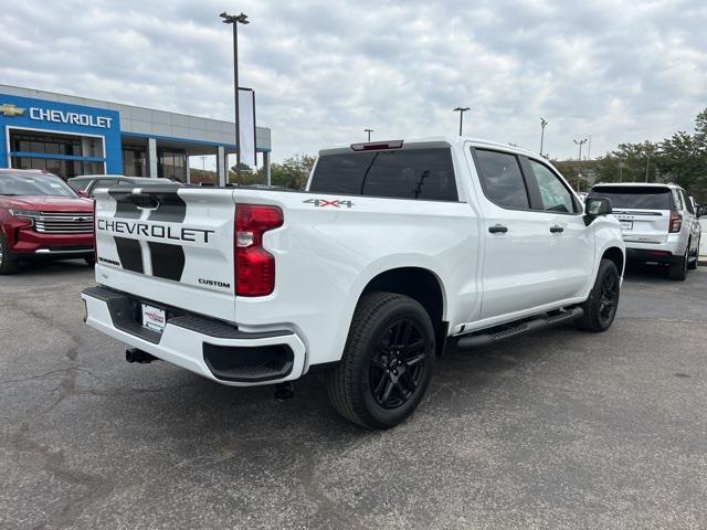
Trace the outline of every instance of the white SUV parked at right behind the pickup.
<instances>
[{"instance_id":1,"label":"white SUV parked at right behind the pickup","mask_svg":"<svg viewBox=\"0 0 707 530\"><path fill-rule=\"evenodd\" d=\"M667 264L683 280L697 268L701 227L693 199L677 184L597 184L589 197L610 199L629 259Z\"/></svg>"}]
</instances>

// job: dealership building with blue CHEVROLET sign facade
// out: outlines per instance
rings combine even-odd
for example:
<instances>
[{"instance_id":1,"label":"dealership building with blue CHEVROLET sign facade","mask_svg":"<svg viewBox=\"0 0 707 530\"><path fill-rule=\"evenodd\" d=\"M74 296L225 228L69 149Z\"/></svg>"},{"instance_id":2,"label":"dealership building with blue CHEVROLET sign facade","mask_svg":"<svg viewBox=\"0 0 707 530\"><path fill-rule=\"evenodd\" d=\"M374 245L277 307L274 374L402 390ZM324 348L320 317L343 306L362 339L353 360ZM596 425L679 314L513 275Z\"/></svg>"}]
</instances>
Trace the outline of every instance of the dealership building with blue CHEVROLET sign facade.
<instances>
[{"instance_id":1,"label":"dealership building with blue CHEVROLET sign facade","mask_svg":"<svg viewBox=\"0 0 707 530\"><path fill-rule=\"evenodd\" d=\"M215 156L223 186L235 152L233 121L0 84L0 168L78 174L162 177L191 182L190 157ZM255 150L270 172L270 129ZM193 179L196 180L196 179Z\"/></svg>"}]
</instances>

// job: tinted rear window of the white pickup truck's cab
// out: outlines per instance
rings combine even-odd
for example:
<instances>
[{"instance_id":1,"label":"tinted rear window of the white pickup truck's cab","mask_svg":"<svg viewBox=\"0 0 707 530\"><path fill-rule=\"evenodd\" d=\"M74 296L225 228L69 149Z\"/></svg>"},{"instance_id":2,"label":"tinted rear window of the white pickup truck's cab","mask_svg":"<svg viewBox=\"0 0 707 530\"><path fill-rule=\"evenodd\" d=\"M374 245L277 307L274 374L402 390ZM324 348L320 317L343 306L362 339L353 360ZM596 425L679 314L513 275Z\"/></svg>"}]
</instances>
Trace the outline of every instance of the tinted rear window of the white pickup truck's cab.
<instances>
[{"instance_id":1,"label":"tinted rear window of the white pickup truck's cab","mask_svg":"<svg viewBox=\"0 0 707 530\"><path fill-rule=\"evenodd\" d=\"M309 191L456 201L449 148L347 152L319 157Z\"/></svg>"}]
</instances>

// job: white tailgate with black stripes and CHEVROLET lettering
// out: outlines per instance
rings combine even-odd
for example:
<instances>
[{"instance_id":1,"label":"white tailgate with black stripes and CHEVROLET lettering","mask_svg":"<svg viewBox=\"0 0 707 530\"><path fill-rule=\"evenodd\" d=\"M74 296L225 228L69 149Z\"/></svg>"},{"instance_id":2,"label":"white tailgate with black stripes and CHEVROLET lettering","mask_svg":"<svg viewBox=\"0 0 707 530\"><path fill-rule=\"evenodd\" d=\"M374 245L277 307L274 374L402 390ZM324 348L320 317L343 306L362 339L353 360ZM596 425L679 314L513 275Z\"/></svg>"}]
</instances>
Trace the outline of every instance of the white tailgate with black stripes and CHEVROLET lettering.
<instances>
[{"instance_id":1,"label":"white tailgate with black stripes and CHEVROLET lettering","mask_svg":"<svg viewBox=\"0 0 707 530\"><path fill-rule=\"evenodd\" d=\"M99 284L235 320L233 190L114 187L95 200Z\"/></svg>"}]
</instances>

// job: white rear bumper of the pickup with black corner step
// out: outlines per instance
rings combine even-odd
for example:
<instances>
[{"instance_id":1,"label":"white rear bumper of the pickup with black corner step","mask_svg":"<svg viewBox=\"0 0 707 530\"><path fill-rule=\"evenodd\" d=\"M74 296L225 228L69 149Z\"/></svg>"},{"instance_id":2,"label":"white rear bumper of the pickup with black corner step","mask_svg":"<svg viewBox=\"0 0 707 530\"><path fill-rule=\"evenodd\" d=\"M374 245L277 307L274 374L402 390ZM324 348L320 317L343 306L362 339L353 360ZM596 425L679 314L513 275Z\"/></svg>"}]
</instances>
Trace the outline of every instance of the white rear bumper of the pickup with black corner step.
<instances>
[{"instance_id":1,"label":"white rear bumper of the pickup with black corner step","mask_svg":"<svg viewBox=\"0 0 707 530\"><path fill-rule=\"evenodd\" d=\"M304 342L288 330L249 333L220 320L175 315L166 308L167 324L158 333L138 321L135 304L139 300L134 297L91 287L82 298L88 326L222 384L279 383L298 379L304 370Z\"/></svg>"}]
</instances>

